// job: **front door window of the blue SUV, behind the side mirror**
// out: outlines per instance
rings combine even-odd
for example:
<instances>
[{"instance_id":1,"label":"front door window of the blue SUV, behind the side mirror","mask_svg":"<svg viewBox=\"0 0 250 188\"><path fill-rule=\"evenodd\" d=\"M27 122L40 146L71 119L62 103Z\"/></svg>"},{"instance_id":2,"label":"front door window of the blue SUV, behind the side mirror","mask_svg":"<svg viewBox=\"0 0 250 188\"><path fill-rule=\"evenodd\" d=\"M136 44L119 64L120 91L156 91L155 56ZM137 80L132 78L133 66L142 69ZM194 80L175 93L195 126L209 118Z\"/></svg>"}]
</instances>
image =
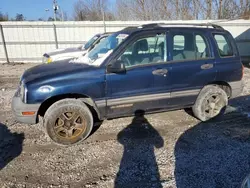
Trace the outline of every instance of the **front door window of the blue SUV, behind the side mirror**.
<instances>
[{"instance_id":1,"label":"front door window of the blue SUV, behind the side mirror","mask_svg":"<svg viewBox=\"0 0 250 188\"><path fill-rule=\"evenodd\" d=\"M127 47L119 57L126 67L166 61L166 35L143 37Z\"/></svg>"}]
</instances>

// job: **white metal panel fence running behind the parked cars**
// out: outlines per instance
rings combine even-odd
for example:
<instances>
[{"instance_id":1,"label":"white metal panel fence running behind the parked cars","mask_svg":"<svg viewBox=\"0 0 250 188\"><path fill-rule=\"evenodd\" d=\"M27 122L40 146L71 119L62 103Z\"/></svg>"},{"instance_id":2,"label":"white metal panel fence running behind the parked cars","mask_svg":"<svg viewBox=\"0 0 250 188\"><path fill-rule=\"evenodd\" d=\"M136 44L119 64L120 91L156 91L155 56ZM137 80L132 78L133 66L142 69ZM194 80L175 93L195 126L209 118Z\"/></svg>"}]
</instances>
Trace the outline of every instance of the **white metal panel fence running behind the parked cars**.
<instances>
[{"instance_id":1,"label":"white metal panel fence running behind the parked cars","mask_svg":"<svg viewBox=\"0 0 250 188\"><path fill-rule=\"evenodd\" d=\"M166 21L158 21L166 22ZM201 23L214 21L171 21ZM147 22L106 22L106 31L118 31ZM250 20L218 22L232 33L240 54L250 57ZM102 22L2 22L0 23L0 62L41 62L44 52L78 46L96 33L104 32Z\"/></svg>"}]
</instances>

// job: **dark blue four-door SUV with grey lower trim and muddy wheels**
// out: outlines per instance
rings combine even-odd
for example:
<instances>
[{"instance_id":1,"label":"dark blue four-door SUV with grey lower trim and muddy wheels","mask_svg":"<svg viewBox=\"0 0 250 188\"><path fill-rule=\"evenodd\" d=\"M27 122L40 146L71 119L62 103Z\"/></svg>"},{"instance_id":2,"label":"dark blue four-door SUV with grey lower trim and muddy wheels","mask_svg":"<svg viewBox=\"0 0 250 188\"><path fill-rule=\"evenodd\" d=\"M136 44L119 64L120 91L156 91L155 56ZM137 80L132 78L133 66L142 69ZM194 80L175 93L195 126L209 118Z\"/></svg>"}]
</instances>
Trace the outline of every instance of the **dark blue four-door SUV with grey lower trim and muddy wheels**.
<instances>
[{"instance_id":1,"label":"dark blue four-door SUV with grey lower trim and muddy wheels","mask_svg":"<svg viewBox=\"0 0 250 188\"><path fill-rule=\"evenodd\" d=\"M82 62L43 64L24 72L13 97L18 121L43 121L49 137L84 140L94 122L192 108L207 121L243 89L235 41L211 24L148 24L113 33ZM41 117L41 118L39 118Z\"/></svg>"}]
</instances>

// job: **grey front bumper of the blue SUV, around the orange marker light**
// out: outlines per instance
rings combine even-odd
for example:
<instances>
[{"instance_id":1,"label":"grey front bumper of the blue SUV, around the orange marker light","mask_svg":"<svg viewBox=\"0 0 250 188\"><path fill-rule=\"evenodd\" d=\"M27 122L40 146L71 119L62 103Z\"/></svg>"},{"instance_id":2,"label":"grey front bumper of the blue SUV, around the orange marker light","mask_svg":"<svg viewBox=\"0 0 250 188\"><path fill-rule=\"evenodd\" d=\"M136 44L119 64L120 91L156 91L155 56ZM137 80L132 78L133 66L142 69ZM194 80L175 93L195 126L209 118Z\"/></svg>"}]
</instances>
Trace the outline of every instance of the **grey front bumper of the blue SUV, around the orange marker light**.
<instances>
[{"instance_id":1,"label":"grey front bumper of the blue SUV, around the orange marker light","mask_svg":"<svg viewBox=\"0 0 250 188\"><path fill-rule=\"evenodd\" d=\"M37 113L41 104L25 104L19 96L12 99L12 112L18 122L35 124L37 123ZM22 112L35 112L34 115L23 115Z\"/></svg>"}]
</instances>

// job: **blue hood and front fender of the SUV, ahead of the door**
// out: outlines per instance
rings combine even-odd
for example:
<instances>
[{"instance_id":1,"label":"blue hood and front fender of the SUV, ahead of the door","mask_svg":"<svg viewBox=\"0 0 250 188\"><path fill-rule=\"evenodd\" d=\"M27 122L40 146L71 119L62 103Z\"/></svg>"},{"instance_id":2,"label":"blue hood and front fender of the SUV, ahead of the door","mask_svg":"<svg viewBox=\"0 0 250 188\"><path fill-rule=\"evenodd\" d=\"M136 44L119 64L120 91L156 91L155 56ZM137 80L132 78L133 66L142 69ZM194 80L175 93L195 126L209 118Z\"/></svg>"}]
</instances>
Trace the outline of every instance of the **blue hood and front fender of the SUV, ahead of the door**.
<instances>
[{"instance_id":1,"label":"blue hood and front fender of the SUV, ahead of the door","mask_svg":"<svg viewBox=\"0 0 250 188\"><path fill-rule=\"evenodd\" d=\"M65 94L82 94L93 100L105 98L105 69L86 64L39 65L27 70L22 80L27 85L28 104L42 103L50 97ZM52 86L53 91L49 94L39 91L41 86L47 85Z\"/></svg>"}]
</instances>

